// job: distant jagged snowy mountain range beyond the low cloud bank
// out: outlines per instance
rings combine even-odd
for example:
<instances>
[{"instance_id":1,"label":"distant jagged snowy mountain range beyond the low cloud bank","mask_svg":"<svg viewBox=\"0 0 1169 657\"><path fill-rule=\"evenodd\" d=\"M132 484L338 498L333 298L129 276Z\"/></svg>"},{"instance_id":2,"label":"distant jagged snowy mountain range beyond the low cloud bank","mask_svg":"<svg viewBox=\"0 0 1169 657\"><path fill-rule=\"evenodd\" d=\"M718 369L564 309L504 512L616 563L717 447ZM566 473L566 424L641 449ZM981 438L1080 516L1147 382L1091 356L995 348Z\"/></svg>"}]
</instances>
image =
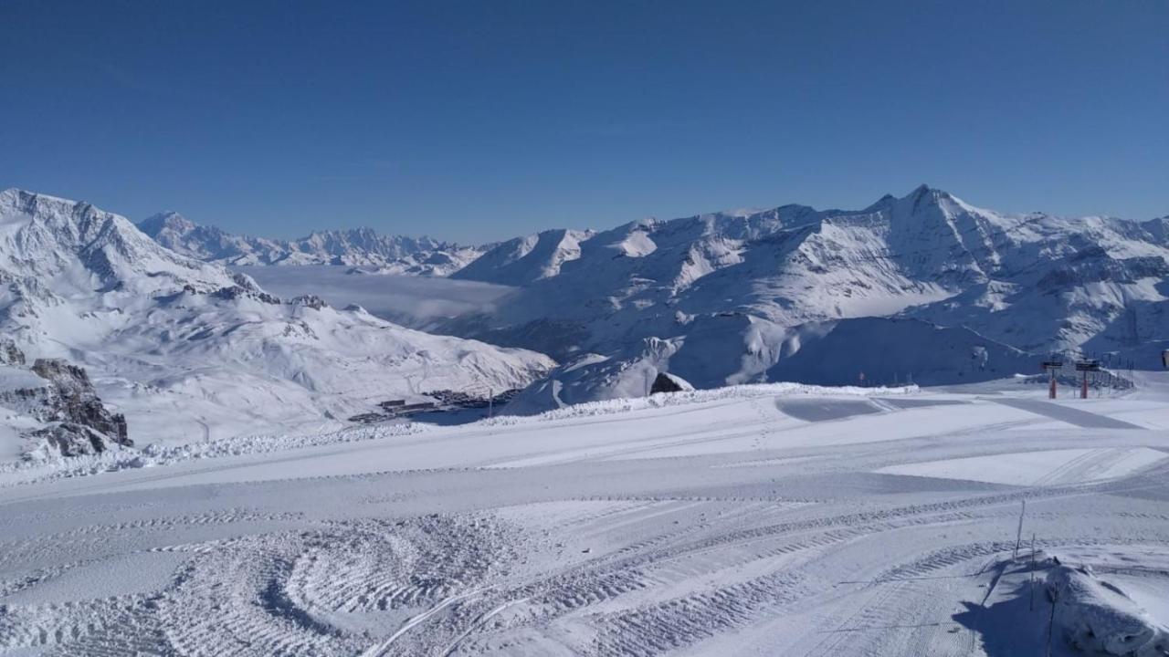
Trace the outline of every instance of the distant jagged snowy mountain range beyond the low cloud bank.
<instances>
[{"instance_id":1,"label":"distant jagged snowy mountain range beyond the low cloud bank","mask_svg":"<svg viewBox=\"0 0 1169 657\"><path fill-rule=\"evenodd\" d=\"M385 274L447 276L483 253L430 237L379 235L371 228L314 231L298 240L249 237L194 223L174 212L157 214L138 228L173 251L229 265L336 264Z\"/></svg>"}]
</instances>

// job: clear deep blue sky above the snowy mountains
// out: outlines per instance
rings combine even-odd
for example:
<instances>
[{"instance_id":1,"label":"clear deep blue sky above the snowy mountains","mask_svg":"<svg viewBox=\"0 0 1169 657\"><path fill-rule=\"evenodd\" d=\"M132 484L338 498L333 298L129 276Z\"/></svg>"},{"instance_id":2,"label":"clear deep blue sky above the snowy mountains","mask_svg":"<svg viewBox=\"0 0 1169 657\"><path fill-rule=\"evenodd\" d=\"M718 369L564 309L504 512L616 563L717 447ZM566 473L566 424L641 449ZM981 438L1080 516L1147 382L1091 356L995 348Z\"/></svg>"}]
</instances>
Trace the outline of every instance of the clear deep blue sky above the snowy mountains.
<instances>
[{"instance_id":1,"label":"clear deep blue sky above the snowy mountains","mask_svg":"<svg viewBox=\"0 0 1169 657\"><path fill-rule=\"evenodd\" d=\"M0 188L475 242L920 182L1169 214L1169 2L0 0Z\"/></svg>"}]
</instances>

